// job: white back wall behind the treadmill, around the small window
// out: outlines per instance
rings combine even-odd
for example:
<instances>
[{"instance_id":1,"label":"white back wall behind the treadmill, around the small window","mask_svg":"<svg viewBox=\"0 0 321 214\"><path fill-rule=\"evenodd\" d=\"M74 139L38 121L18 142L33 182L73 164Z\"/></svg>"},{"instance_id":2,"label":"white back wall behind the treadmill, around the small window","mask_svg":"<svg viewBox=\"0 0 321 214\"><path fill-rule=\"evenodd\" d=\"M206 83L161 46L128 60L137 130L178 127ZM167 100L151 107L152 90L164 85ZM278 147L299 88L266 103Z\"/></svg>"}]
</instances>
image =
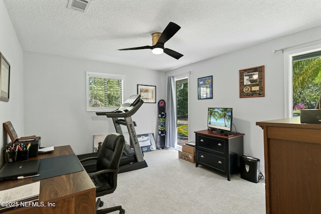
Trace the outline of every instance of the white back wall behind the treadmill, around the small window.
<instances>
[{"instance_id":1,"label":"white back wall behind the treadmill, around the small window","mask_svg":"<svg viewBox=\"0 0 321 214\"><path fill-rule=\"evenodd\" d=\"M115 132L111 118L86 111L86 71L124 74L124 99L137 94L137 84L156 86L156 99L165 99L164 72L25 52L26 135L41 136L43 147L69 144L84 154L93 152L93 135ZM156 103L144 103L132 119L137 134L157 136Z\"/></svg>"}]
</instances>

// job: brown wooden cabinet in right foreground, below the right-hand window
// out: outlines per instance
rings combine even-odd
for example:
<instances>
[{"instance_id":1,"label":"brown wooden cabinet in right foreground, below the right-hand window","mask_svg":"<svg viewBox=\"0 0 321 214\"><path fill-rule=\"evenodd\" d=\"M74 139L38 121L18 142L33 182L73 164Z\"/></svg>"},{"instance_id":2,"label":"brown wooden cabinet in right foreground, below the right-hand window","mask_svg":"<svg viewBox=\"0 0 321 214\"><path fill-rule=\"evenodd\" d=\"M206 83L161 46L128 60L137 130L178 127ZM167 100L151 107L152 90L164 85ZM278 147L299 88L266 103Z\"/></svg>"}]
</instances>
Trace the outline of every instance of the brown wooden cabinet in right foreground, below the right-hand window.
<instances>
[{"instance_id":1,"label":"brown wooden cabinet in right foreground, below the right-hand window","mask_svg":"<svg viewBox=\"0 0 321 214\"><path fill-rule=\"evenodd\" d=\"M300 117L256 125L264 131L266 213L319 213L321 125Z\"/></svg>"}]
</instances>

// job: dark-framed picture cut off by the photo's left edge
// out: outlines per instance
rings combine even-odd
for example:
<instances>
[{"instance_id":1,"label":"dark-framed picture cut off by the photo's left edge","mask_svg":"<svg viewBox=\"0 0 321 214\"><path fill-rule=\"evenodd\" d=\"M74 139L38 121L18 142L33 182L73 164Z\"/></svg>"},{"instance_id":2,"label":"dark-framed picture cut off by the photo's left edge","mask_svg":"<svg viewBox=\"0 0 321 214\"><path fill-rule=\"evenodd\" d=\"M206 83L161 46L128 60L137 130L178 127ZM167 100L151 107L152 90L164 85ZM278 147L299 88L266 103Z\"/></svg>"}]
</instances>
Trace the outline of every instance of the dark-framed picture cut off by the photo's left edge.
<instances>
[{"instance_id":1,"label":"dark-framed picture cut off by the photo's left edge","mask_svg":"<svg viewBox=\"0 0 321 214\"><path fill-rule=\"evenodd\" d=\"M10 89L10 64L0 53L0 100L9 101L9 89Z\"/></svg>"}]
</instances>

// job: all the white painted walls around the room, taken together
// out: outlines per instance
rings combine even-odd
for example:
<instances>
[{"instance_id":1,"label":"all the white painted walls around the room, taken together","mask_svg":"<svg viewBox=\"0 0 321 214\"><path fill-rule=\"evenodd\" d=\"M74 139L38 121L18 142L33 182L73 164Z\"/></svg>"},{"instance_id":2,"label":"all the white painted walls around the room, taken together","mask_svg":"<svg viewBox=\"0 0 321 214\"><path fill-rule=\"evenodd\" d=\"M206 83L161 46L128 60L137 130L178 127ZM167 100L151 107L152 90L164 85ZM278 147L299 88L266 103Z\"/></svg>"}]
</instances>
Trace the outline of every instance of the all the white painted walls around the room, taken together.
<instances>
[{"instance_id":1,"label":"all the white painted walls around the room, taken together","mask_svg":"<svg viewBox=\"0 0 321 214\"><path fill-rule=\"evenodd\" d=\"M124 74L125 97L136 93L137 84L155 85L156 100L167 100L167 76L191 71L190 140L195 141L194 131L206 129L208 107L233 107L237 131L245 133L244 154L260 158L262 171L263 131L255 123L283 118L287 93L283 54L272 50L321 38L321 27L313 28L163 73L23 52L3 1L0 20L0 29L6 29L0 32L0 51L11 64L10 101L0 102L0 118L11 120L20 136L36 134L42 137L42 146L70 144L77 154L91 152L92 136L114 132L114 127L111 119L86 112L86 71ZM239 98L239 70L261 65L265 66L265 97ZM197 78L209 75L213 75L213 99L198 100ZM145 103L133 115L138 134L157 136L156 109L157 104ZM4 133L0 131L1 150L10 141ZM2 153L0 157L1 165Z\"/></svg>"}]
</instances>

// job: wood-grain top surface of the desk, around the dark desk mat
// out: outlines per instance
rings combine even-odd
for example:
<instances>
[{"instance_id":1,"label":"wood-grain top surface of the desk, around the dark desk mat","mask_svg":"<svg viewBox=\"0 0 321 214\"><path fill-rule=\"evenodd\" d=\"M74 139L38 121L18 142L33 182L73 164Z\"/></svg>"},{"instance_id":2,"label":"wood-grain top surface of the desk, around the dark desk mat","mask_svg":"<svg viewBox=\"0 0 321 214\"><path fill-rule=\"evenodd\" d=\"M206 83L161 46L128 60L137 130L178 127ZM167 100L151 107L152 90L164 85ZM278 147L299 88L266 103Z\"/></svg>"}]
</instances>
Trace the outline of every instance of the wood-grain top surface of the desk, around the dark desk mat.
<instances>
[{"instance_id":1,"label":"wood-grain top surface of the desk, around the dark desk mat","mask_svg":"<svg viewBox=\"0 0 321 214\"><path fill-rule=\"evenodd\" d=\"M56 157L62 155L74 154L74 151L68 146L57 146L51 153L40 154L32 159L42 159L48 157ZM32 177L22 180L8 180L0 182L0 190L13 188L16 186L32 183ZM95 185L88 176L86 170L64 174L56 177L50 177L40 180L40 196L39 201L55 202L65 196L79 194L79 192L87 192L95 189Z\"/></svg>"}]
</instances>

